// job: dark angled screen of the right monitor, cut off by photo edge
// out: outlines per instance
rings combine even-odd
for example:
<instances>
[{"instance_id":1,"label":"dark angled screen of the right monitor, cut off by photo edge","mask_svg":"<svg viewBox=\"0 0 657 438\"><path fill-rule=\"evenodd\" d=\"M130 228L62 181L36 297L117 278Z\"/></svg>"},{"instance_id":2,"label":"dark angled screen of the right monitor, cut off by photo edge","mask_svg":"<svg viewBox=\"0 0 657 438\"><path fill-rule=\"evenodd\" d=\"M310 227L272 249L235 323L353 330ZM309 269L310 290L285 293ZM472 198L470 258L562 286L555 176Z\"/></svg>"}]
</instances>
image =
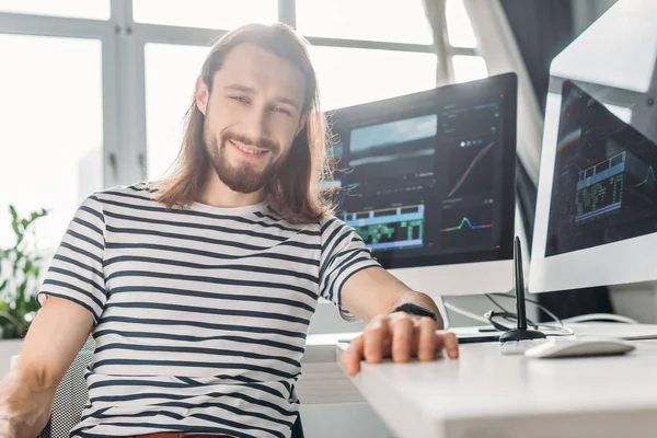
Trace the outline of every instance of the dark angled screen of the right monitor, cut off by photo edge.
<instances>
[{"instance_id":1,"label":"dark angled screen of the right monitor, cut off by photo edge","mask_svg":"<svg viewBox=\"0 0 657 438\"><path fill-rule=\"evenodd\" d=\"M545 256L657 231L656 152L646 136L564 81Z\"/></svg>"}]
</instances>

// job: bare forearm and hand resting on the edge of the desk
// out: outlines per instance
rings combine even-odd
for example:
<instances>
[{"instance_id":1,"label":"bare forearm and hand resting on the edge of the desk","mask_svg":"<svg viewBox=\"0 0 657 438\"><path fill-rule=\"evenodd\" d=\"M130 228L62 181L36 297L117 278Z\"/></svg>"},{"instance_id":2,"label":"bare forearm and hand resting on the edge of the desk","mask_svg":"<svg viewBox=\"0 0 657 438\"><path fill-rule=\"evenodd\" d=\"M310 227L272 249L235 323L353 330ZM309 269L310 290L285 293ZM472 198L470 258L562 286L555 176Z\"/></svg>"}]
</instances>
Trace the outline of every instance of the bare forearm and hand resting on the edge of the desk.
<instances>
[{"instance_id":1,"label":"bare forearm and hand resting on the edge of the desk","mask_svg":"<svg viewBox=\"0 0 657 438\"><path fill-rule=\"evenodd\" d=\"M351 341L342 362L351 376L360 369L360 360L378 364L385 357L405 362L412 357L433 360L446 349L450 358L459 356L457 338L442 332L443 323L435 301L411 290L385 269L369 267L354 274L343 285L341 302L355 316L367 321L364 333ZM397 307L413 303L430 310L428 316L391 313Z\"/></svg>"}]
</instances>

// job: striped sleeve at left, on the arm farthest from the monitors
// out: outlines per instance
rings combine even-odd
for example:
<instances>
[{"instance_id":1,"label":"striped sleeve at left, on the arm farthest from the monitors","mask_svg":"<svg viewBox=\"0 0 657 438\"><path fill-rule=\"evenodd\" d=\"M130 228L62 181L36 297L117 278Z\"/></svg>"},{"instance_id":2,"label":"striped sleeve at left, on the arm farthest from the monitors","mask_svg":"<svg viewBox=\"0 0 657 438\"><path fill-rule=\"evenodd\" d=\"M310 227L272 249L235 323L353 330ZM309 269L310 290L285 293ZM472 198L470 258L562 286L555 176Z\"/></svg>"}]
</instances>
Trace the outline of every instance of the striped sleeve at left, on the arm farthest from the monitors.
<instances>
[{"instance_id":1,"label":"striped sleeve at left, on the arm farthest from the monitors","mask_svg":"<svg viewBox=\"0 0 657 438\"><path fill-rule=\"evenodd\" d=\"M97 324L106 302L103 256L105 217L95 195L88 197L64 235L37 299L59 297L89 310Z\"/></svg>"}]
</instances>

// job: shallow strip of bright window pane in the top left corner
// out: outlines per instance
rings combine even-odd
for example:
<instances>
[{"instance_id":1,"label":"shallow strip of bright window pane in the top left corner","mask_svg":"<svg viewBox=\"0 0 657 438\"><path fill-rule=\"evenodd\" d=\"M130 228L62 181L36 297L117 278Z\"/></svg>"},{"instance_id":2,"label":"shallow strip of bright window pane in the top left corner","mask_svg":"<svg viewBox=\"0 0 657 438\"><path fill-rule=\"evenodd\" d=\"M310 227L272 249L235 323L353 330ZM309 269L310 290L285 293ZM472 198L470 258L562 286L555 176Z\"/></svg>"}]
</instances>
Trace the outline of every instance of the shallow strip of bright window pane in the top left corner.
<instances>
[{"instance_id":1,"label":"shallow strip of bright window pane in the top left corner","mask_svg":"<svg viewBox=\"0 0 657 438\"><path fill-rule=\"evenodd\" d=\"M110 0L0 0L0 12L108 20Z\"/></svg>"}]
</instances>

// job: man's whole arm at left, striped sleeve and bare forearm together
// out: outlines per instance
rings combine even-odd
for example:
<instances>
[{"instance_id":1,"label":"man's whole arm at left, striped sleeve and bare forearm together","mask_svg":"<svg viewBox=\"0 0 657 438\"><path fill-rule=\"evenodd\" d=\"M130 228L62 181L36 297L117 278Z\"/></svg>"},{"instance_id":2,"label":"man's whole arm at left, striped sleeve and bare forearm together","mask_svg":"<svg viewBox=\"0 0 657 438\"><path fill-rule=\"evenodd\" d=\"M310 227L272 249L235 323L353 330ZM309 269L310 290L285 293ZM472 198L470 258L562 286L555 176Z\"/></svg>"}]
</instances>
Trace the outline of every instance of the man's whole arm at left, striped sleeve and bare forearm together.
<instances>
[{"instance_id":1,"label":"man's whole arm at left, striped sleeve and bare forearm together","mask_svg":"<svg viewBox=\"0 0 657 438\"><path fill-rule=\"evenodd\" d=\"M104 310L104 252L105 215L92 195L64 234L37 295L45 302L0 382L0 438L35 437L46 425L61 378Z\"/></svg>"}]
</instances>

